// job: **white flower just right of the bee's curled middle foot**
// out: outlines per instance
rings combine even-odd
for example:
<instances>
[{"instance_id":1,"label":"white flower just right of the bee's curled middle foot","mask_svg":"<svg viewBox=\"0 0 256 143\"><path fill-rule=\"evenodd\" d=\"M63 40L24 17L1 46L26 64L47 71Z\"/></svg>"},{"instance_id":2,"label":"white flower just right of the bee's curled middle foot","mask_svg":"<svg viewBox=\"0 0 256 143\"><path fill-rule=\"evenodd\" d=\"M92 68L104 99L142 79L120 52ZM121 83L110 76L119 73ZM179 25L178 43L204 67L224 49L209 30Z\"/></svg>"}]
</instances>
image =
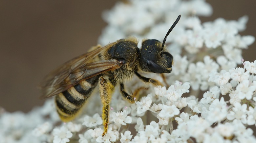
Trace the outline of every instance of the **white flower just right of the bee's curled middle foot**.
<instances>
[{"instance_id":1,"label":"white flower just right of the bee's curled middle foot","mask_svg":"<svg viewBox=\"0 0 256 143\"><path fill-rule=\"evenodd\" d=\"M140 102L139 101L136 102L136 104L138 106L137 114L146 112L149 109L151 103L152 103L152 100L150 97L142 98Z\"/></svg>"}]
</instances>

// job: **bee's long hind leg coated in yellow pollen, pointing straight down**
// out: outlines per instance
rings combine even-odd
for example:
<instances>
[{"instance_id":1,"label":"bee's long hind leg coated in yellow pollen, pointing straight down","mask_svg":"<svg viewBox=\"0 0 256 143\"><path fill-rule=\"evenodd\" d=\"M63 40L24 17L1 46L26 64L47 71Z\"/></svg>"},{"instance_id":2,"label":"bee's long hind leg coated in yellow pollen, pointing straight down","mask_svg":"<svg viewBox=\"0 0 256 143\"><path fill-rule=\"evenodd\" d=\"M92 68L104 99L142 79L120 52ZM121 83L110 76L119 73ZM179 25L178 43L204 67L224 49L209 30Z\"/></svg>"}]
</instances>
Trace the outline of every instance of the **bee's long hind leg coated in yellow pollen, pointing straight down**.
<instances>
[{"instance_id":1,"label":"bee's long hind leg coated in yellow pollen, pointing straight down","mask_svg":"<svg viewBox=\"0 0 256 143\"><path fill-rule=\"evenodd\" d=\"M103 105L102 120L103 120L104 132L102 136L104 136L108 130L109 103L111 101L111 96L113 91L114 91L114 86L110 82L110 80L101 76L99 78L99 93L100 93L100 98Z\"/></svg>"}]
</instances>

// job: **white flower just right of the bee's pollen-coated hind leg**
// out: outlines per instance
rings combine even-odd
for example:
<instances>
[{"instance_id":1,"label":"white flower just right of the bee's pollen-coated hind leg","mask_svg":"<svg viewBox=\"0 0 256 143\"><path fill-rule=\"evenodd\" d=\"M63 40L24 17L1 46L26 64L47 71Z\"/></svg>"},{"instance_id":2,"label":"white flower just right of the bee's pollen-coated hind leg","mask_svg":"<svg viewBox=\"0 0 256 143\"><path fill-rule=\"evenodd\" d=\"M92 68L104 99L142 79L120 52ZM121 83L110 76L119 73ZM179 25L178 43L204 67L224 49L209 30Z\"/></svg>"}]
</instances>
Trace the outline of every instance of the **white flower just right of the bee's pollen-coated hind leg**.
<instances>
[{"instance_id":1,"label":"white flower just right of the bee's pollen-coated hind leg","mask_svg":"<svg viewBox=\"0 0 256 143\"><path fill-rule=\"evenodd\" d=\"M127 116L127 110L120 111L120 112L113 112L111 121L117 123L117 124L122 124L126 125L126 123L131 123L132 122L132 117Z\"/></svg>"}]
</instances>

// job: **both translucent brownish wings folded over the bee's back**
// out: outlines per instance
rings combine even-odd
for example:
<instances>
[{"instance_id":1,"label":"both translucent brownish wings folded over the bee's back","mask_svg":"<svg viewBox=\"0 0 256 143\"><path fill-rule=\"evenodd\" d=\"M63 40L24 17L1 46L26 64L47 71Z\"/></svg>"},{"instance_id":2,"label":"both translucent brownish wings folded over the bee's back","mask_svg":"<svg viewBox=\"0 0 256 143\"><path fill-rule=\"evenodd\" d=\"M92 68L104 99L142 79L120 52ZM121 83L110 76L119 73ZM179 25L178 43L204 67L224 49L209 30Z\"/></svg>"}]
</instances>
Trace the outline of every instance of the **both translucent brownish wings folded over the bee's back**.
<instances>
[{"instance_id":1,"label":"both translucent brownish wings folded over the bee's back","mask_svg":"<svg viewBox=\"0 0 256 143\"><path fill-rule=\"evenodd\" d=\"M49 73L39 85L43 93L41 98L51 97L82 80L119 68L121 65L115 59L92 62L104 48L100 47L75 57Z\"/></svg>"}]
</instances>

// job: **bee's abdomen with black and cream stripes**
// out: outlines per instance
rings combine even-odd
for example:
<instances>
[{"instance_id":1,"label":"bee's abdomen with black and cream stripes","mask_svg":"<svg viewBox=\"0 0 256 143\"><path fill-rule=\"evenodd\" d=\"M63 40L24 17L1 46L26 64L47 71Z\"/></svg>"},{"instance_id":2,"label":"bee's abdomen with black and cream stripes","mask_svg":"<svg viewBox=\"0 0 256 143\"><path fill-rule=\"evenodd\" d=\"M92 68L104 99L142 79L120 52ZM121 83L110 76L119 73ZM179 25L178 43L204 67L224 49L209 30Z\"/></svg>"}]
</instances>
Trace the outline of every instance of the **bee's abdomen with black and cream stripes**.
<instances>
[{"instance_id":1,"label":"bee's abdomen with black and cream stripes","mask_svg":"<svg viewBox=\"0 0 256 143\"><path fill-rule=\"evenodd\" d=\"M62 121L70 121L76 117L87 98L98 83L99 76L89 78L59 93L55 97L56 109Z\"/></svg>"}]
</instances>

